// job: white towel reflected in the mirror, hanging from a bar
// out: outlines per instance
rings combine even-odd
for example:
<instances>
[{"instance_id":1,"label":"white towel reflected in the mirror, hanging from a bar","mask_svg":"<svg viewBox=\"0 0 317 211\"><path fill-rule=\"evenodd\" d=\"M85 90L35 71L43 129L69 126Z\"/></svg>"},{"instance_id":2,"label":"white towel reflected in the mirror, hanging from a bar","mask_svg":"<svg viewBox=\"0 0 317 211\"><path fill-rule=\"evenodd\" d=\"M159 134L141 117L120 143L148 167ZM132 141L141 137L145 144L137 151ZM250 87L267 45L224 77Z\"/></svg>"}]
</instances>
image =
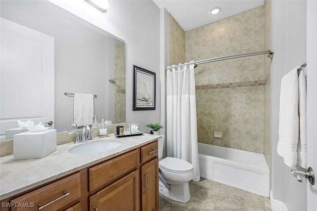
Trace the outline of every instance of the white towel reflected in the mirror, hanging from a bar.
<instances>
[{"instance_id":1,"label":"white towel reflected in the mirror, hanging from a bar","mask_svg":"<svg viewBox=\"0 0 317 211\"><path fill-rule=\"evenodd\" d=\"M91 125L94 121L94 95L74 95L74 123L77 126Z\"/></svg>"}]
</instances>

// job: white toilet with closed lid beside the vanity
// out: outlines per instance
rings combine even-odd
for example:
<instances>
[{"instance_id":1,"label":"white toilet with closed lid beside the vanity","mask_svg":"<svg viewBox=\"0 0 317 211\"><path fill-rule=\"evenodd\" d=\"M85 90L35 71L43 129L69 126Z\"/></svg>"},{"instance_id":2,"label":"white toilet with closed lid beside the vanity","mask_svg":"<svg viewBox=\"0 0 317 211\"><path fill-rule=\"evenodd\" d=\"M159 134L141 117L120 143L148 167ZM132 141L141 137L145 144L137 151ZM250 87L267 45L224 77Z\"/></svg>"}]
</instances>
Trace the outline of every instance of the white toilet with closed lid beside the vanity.
<instances>
[{"instance_id":1,"label":"white toilet with closed lid beside the vanity","mask_svg":"<svg viewBox=\"0 0 317 211\"><path fill-rule=\"evenodd\" d=\"M188 182L194 178L193 165L179 158L163 157L164 136L159 139L159 193L171 200L190 200Z\"/></svg>"}]
</instances>

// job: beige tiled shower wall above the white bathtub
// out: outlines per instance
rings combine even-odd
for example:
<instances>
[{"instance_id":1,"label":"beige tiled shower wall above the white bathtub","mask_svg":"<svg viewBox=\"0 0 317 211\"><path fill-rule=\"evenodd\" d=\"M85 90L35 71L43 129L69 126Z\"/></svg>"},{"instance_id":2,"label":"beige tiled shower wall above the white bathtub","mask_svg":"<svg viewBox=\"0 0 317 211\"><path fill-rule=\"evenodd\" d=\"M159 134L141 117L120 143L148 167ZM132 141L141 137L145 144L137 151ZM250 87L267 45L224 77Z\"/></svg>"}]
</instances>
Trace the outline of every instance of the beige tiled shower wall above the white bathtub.
<instances>
[{"instance_id":1,"label":"beige tiled shower wall above the white bathtub","mask_svg":"<svg viewBox=\"0 0 317 211\"><path fill-rule=\"evenodd\" d=\"M170 21L170 37L174 28ZM185 61L263 49L264 6L185 32ZM264 153L265 56L195 69L199 142ZM213 131L222 131L223 138L214 138Z\"/></svg>"}]
</instances>

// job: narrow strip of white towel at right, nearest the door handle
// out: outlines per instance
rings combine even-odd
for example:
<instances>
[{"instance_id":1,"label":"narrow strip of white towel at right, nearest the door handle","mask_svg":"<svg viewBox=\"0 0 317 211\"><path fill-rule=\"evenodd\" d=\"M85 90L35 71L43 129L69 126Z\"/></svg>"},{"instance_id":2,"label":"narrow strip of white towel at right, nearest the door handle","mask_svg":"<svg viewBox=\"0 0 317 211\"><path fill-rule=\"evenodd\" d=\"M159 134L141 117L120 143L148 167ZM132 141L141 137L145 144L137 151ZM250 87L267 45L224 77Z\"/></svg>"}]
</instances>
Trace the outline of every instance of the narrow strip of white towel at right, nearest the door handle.
<instances>
[{"instance_id":1,"label":"narrow strip of white towel at right, nearest the door handle","mask_svg":"<svg viewBox=\"0 0 317 211\"><path fill-rule=\"evenodd\" d=\"M307 98L306 78L303 71L298 76L299 143L297 165L307 169Z\"/></svg>"}]
</instances>

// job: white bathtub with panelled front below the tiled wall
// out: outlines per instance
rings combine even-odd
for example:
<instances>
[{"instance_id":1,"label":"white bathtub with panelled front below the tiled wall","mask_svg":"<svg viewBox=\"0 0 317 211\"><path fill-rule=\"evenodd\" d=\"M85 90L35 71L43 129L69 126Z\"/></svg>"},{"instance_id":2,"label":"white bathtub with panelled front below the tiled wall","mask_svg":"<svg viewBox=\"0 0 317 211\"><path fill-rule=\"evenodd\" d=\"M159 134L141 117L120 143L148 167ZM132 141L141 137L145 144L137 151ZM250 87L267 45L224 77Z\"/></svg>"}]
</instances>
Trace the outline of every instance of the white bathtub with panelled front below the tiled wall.
<instances>
[{"instance_id":1,"label":"white bathtub with panelled front below the tiled wall","mask_svg":"<svg viewBox=\"0 0 317 211\"><path fill-rule=\"evenodd\" d=\"M265 197L269 170L263 154L198 143L200 175Z\"/></svg>"}]
</instances>

